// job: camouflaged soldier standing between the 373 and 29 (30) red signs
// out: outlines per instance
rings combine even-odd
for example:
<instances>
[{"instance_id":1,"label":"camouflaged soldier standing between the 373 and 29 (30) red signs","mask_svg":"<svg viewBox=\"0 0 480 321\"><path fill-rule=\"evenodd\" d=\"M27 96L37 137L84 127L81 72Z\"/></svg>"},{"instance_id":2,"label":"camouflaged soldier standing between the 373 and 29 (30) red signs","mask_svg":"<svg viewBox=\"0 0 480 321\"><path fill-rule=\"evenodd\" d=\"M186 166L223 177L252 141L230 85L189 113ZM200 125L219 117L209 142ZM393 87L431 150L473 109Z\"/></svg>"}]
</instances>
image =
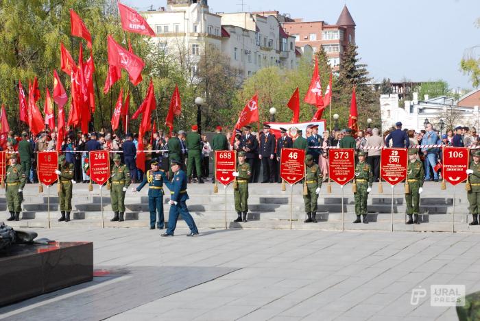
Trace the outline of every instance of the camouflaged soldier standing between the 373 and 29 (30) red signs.
<instances>
[{"instance_id":1,"label":"camouflaged soldier standing between the 373 and 29 (30) red signs","mask_svg":"<svg viewBox=\"0 0 480 321\"><path fill-rule=\"evenodd\" d=\"M354 194L355 214L357 214L357 220L353 221L354 223L360 223L360 216L363 216L363 223L368 224L367 199L368 193L372 191L372 183L372 168L365 163L365 152L359 151L359 163L355 166L355 185L357 186L357 192L354 192Z\"/></svg>"}]
</instances>

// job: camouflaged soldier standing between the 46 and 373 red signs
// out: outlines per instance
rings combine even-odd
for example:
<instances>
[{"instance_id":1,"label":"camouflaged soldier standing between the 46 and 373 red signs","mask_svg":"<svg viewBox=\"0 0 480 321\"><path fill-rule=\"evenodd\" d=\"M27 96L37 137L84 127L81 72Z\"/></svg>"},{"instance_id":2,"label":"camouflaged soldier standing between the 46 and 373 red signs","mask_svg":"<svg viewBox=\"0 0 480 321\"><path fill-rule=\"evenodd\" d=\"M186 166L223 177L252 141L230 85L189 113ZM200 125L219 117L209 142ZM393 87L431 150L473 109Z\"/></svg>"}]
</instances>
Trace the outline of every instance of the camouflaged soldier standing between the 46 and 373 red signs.
<instances>
[{"instance_id":1,"label":"camouflaged soldier standing between the 46 and 373 red signs","mask_svg":"<svg viewBox=\"0 0 480 321\"><path fill-rule=\"evenodd\" d=\"M305 157L305 184L307 185L307 194L303 196L305 203L305 212L307 213L307 220L305 223L317 222L317 200L322 187L323 176L320 168L313 162L311 154Z\"/></svg>"}]
</instances>

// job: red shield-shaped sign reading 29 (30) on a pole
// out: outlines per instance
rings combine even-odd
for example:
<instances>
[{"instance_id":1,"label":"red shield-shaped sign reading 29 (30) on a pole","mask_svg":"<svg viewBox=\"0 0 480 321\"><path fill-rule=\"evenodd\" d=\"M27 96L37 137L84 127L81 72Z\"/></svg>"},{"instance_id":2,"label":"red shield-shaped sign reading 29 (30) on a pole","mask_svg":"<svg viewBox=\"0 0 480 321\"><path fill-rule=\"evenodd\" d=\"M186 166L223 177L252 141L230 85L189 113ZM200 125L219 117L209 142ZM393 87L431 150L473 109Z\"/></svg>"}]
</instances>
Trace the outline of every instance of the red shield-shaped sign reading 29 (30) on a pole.
<instances>
[{"instance_id":1,"label":"red shield-shaped sign reading 29 (30) on a pole","mask_svg":"<svg viewBox=\"0 0 480 321\"><path fill-rule=\"evenodd\" d=\"M396 185L407 178L407 149L382 149L380 177L390 185Z\"/></svg>"}]
</instances>

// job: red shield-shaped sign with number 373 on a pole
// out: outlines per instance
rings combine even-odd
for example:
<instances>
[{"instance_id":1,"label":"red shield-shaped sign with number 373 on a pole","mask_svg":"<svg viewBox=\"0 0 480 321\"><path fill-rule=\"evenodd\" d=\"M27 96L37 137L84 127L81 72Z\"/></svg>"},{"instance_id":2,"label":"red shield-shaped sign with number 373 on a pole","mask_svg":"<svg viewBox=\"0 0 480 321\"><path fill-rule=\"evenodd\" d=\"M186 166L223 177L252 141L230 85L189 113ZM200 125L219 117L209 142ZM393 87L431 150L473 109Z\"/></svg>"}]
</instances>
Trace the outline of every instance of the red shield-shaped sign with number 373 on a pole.
<instances>
[{"instance_id":1,"label":"red shield-shaped sign with number 373 on a pole","mask_svg":"<svg viewBox=\"0 0 480 321\"><path fill-rule=\"evenodd\" d=\"M345 185L355 177L355 152L353 149L329 149L330 179Z\"/></svg>"}]
</instances>

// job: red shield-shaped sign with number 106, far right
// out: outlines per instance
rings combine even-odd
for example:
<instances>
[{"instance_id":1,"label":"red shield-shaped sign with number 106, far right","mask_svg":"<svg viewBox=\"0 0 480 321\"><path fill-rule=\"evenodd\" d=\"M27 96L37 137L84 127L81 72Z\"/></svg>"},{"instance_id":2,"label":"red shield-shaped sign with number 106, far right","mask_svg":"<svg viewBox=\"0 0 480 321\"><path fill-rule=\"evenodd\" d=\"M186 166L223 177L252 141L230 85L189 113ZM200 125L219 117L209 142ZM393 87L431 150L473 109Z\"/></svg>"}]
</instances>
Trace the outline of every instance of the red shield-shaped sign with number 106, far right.
<instances>
[{"instance_id":1,"label":"red shield-shaped sign with number 106, far right","mask_svg":"<svg viewBox=\"0 0 480 321\"><path fill-rule=\"evenodd\" d=\"M448 183L457 185L468 177L469 151L466 147L444 147L444 164L442 166L442 177Z\"/></svg>"}]
</instances>

